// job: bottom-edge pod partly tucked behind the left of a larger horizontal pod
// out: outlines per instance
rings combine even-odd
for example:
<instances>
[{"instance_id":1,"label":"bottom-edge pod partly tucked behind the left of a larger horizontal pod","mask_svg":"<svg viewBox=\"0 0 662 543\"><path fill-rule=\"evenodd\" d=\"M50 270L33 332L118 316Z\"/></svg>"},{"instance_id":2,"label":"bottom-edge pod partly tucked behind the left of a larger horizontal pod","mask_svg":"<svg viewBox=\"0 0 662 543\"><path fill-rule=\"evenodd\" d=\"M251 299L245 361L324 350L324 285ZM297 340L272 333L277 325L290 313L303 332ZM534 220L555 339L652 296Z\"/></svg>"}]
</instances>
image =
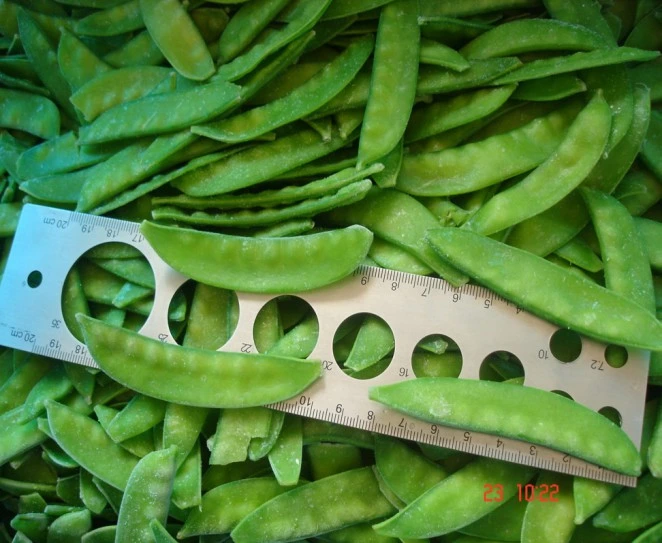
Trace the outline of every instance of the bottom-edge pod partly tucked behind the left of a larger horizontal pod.
<instances>
[{"instance_id":1,"label":"bottom-edge pod partly tucked behind the left of a larger horizontal pod","mask_svg":"<svg viewBox=\"0 0 662 543\"><path fill-rule=\"evenodd\" d=\"M219 485L202 496L200 507L191 510L177 537L229 533L260 505L287 490L273 477Z\"/></svg>"}]
</instances>

